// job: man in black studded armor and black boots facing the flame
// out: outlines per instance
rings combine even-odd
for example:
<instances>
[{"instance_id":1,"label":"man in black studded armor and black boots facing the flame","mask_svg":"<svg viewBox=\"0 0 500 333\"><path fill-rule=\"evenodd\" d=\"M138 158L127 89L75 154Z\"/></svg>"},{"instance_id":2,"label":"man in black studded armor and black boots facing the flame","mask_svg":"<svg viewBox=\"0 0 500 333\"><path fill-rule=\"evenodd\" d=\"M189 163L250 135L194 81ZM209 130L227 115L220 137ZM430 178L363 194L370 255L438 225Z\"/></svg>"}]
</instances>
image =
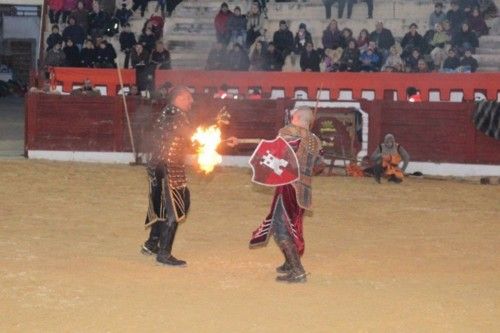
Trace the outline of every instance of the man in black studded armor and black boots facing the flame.
<instances>
[{"instance_id":1,"label":"man in black studded armor and black boots facing the flame","mask_svg":"<svg viewBox=\"0 0 500 333\"><path fill-rule=\"evenodd\" d=\"M184 87L174 88L169 97L170 104L161 110L153 124L153 149L147 163L149 208L146 226L151 230L141 252L156 254L161 264L184 266L184 260L172 255L172 245L178 223L186 218L190 205L184 163L194 132L187 117L193 97Z\"/></svg>"}]
</instances>

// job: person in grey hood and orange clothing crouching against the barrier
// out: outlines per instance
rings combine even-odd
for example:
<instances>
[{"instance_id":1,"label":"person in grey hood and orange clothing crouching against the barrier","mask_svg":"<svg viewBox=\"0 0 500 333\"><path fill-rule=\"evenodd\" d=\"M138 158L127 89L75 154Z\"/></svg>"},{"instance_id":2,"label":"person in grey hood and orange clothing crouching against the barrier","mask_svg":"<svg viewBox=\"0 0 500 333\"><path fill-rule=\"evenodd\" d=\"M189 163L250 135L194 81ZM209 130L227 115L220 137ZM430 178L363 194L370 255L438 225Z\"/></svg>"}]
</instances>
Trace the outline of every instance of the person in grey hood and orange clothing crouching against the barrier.
<instances>
[{"instance_id":1,"label":"person in grey hood and orange clothing crouching against the barrier","mask_svg":"<svg viewBox=\"0 0 500 333\"><path fill-rule=\"evenodd\" d=\"M373 174L377 183L380 183L382 177L387 178L389 182L401 183L404 178L404 172L410 162L410 155L394 138L394 135L387 134L377 149L371 156L375 163ZM399 164L403 162L400 168Z\"/></svg>"}]
</instances>

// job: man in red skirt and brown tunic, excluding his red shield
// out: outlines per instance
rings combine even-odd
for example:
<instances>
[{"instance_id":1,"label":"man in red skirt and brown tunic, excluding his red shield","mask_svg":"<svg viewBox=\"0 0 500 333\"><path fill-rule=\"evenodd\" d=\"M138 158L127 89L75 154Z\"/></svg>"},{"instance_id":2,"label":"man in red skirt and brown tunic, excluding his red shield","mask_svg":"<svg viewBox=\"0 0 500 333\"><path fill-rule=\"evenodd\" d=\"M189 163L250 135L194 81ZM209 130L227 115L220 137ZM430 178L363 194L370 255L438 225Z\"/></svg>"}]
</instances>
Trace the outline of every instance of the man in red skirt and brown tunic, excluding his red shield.
<instances>
[{"instance_id":1,"label":"man in red skirt and brown tunic, excluding his red shield","mask_svg":"<svg viewBox=\"0 0 500 333\"><path fill-rule=\"evenodd\" d=\"M292 110L291 124L279 131L296 152L299 162L299 179L276 187L271 211L250 240L250 247L263 245L269 236L274 239L285 256L285 263L276 268L283 273L276 278L280 282L306 282L306 272L300 261L304 253L303 217L312 208L311 181L320 164L321 142L309 130L313 113L308 107Z\"/></svg>"}]
</instances>

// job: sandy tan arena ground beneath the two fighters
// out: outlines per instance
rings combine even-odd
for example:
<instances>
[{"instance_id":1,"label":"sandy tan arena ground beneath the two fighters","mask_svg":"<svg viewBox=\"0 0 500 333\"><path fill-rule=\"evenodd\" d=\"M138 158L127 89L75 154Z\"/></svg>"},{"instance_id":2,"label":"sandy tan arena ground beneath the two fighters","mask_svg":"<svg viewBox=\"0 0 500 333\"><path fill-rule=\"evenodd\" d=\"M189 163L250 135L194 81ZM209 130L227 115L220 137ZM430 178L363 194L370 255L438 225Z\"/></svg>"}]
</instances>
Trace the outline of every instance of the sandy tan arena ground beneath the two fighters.
<instances>
[{"instance_id":1,"label":"sandy tan arena ground beneath the two fighters","mask_svg":"<svg viewBox=\"0 0 500 333\"><path fill-rule=\"evenodd\" d=\"M139 253L141 167L0 161L1 332L499 332L500 186L316 178L306 284L249 250L271 193L192 174L174 254Z\"/></svg>"}]
</instances>

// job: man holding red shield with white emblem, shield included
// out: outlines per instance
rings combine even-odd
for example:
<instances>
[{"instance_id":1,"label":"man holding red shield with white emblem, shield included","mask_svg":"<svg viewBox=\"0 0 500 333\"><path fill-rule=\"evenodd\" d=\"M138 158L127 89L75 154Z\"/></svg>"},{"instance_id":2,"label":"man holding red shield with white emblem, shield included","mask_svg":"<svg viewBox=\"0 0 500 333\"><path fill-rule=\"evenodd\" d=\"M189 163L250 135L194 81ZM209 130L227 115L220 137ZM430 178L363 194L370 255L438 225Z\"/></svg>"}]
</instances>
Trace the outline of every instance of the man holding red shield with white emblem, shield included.
<instances>
[{"instance_id":1,"label":"man holding red shield with white emblem, shield included","mask_svg":"<svg viewBox=\"0 0 500 333\"><path fill-rule=\"evenodd\" d=\"M304 253L303 217L312 208L311 181L320 165L321 142L311 133L313 111L305 106L291 111L291 124L273 141L263 140L250 159L252 181L275 186L271 210L252 234L250 247L265 245L271 235L285 257L276 268L279 282L306 282L300 256Z\"/></svg>"}]
</instances>

